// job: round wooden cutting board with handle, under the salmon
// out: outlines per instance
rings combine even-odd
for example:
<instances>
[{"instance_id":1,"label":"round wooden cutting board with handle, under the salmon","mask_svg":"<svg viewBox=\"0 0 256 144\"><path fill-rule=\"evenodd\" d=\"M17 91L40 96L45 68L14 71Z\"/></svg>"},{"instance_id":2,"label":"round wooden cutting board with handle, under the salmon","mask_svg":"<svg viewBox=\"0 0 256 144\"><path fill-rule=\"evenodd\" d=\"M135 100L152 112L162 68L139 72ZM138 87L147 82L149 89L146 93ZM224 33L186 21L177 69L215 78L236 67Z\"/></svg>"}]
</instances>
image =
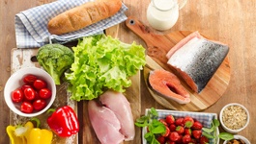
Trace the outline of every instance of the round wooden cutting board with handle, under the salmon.
<instances>
[{"instance_id":1,"label":"round wooden cutting board with handle, under the salmon","mask_svg":"<svg viewBox=\"0 0 256 144\"><path fill-rule=\"evenodd\" d=\"M196 93L189 88L187 84L177 75L177 73L167 64L167 58L165 55L167 52L180 40L188 36L192 32L177 31L166 35L157 35L151 32L151 30L143 25L135 17L129 16L126 21L128 29L140 36L147 45L147 55L150 56L147 59L147 65L144 67L144 80L148 86L148 89L156 102L165 108L177 109L177 110L189 110L200 111L211 107L217 100L219 100L225 92L230 81L230 65L229 60L226 57L221 63L220 67L214 73L211 81L200 92ZM161 96L157 95L148 85L148 73L153 69L165 69L175 73L181 83L185 86L186 90L190 94L191 102L185 105L180 105L174 101L168 101Z\"/></svg>"}]
</instances>

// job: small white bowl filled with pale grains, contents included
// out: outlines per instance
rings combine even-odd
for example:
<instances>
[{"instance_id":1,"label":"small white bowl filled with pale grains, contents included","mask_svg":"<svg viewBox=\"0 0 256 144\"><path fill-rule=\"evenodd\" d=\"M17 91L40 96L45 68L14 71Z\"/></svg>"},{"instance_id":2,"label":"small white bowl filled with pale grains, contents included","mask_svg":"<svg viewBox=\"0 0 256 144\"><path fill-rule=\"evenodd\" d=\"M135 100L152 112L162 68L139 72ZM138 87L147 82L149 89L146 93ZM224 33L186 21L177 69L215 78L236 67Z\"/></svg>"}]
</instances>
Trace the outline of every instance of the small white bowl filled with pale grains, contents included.
<instances>
[{"instance_id":1,"label":"small white bowl filled with pale grains, contents included","mask_svg":"<svg viewBox=\"0 0 256 144\"><path fill-rule=\"evenodd\" d=\"M220 110L219 121L226 132L241 132L249 124L247 108L238 103L231 103Z\"/></svg>"}]
</instances>

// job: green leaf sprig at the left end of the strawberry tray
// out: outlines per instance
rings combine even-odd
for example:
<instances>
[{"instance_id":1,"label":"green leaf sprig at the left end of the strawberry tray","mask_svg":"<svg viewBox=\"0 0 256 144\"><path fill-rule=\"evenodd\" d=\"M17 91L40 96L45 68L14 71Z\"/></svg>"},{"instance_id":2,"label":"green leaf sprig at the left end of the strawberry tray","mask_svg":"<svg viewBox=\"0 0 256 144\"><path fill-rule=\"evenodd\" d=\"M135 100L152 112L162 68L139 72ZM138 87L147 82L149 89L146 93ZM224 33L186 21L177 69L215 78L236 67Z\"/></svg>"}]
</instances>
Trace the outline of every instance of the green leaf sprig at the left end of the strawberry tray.
<instances>
[{"instance_id":1,"label":"green leaf sprig at the left end of the strawberry tray","mask_svg":"<svg viewBox=\"0 0 256 144\"><path fill-rule=\"evenodd\" d=\"M155 108L151 108L147 115L136 119L135 125L137 127L145 127L149 132L145 133L144 138L150 144L159 144L156 140L156 134L164 133L165 126L157 120L158 113Z\"/></svg>"}]
</instances>

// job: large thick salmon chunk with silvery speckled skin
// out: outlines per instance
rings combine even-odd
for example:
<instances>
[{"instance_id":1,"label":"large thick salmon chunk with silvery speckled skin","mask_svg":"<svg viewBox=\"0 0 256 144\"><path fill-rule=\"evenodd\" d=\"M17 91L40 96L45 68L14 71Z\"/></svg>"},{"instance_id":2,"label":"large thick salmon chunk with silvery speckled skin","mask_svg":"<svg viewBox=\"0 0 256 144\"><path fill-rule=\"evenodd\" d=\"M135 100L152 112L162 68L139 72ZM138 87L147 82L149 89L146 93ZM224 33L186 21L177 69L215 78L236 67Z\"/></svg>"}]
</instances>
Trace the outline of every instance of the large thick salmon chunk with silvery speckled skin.
<instances>
[{"instance_id":1,"label":"large thick salmon chunk with silvery speckled skin","mask_svg":"<svg viewBox=\"0 0 256 144\"><path fill-rule=\"evenodd\" d=\"M200 93L225 59L229 47L194 32L178 42L166 55L191 89Z\"/></svg>"}]
</instances>

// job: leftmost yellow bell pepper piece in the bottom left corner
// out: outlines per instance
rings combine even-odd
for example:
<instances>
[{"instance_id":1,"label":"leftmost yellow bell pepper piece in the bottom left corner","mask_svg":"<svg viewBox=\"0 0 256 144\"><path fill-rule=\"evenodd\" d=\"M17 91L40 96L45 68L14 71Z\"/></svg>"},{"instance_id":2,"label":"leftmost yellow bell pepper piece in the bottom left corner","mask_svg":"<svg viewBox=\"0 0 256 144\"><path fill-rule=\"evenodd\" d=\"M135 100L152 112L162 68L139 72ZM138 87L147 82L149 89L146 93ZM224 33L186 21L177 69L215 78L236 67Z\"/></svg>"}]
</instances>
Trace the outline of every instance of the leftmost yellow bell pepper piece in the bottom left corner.
<instances>
[{"instance_id":1,"label":"leftmost yellow bell pepper piece in the bottom left corner","mask_svg":"<svg viewBox=\"0 0 256 144\"><path fill-rule=\"evenodd\" d=\"M26 139L24 136L17 136L15 134L15 126L8 126L6 128L6 132L8 133L10 137L10 141L12 144L26 144Z\"/></svg>"}]
</instances>

